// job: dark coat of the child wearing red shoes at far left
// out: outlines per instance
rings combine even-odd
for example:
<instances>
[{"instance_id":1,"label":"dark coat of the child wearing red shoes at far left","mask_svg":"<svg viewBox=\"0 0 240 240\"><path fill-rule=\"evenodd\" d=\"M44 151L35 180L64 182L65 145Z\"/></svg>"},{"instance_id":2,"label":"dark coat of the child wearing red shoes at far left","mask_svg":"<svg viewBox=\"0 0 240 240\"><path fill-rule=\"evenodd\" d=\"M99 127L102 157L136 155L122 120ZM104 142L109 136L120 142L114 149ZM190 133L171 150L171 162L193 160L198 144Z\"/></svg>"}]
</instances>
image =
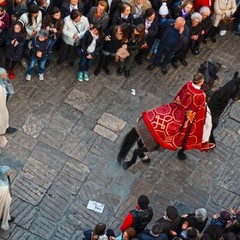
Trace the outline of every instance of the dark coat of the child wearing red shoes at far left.
<instances>
[{"instance_id":1,"label":"dark coat of the child wearing red shoes at far left","mask_svg":"<svg viewBox=\"0 0 240 240\"><path fill-rule=\"evenodd\" d=\"M14 47L11 43L16 39L18 45ZM15 33L12 29L9 30L6 39L5 57L13 61L19 61L22 58L26 38L23 33Z\"/></svg>"}]
</instances>

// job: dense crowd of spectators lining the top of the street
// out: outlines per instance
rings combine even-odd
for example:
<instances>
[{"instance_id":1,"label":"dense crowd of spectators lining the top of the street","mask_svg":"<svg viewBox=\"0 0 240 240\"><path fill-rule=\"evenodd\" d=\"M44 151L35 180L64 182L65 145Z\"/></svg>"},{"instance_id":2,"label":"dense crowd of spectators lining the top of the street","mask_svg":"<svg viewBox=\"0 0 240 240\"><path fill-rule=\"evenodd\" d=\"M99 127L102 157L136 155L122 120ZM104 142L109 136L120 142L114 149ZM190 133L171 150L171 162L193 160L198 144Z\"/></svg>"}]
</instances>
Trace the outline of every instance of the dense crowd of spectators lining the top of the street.
<instances>
[{"instance_id":1,"label":"dense crowd of spectators lining the top of the street","mask_svg":"<svg viewBox=\"0 0 240 240\"><path fill-rule=\"evenodd\" d=\"M238 0L237 0L238 1ZM1 0L0 45L5 48L5 68L15 77L17 62L27 68L30 81L38 63L44 80L53 50L57 64L76 62L78 80L88 81L94 60L94 75L110 74L109 63L117 62L117 75L130 76L134 61L152 58L148 70L169 63L186 66L187 54L197 55L200 45L228 22L239 22L236 0ZM230 19L230 20L229 20Z\"/></svg>"}]
</instances>

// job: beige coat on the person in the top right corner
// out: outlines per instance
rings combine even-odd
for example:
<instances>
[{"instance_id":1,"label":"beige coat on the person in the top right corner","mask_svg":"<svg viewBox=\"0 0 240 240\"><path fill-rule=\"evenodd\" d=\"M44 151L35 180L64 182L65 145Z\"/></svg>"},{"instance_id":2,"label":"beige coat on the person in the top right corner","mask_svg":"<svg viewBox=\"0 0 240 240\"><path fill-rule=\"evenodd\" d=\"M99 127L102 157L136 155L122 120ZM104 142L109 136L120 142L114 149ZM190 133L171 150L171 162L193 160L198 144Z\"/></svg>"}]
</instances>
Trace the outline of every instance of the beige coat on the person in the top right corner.
<instances>
[{"instance_id":1,"label":"beige coat on the person in the top right corner","mask_svg":"<svg viewBox=\"0 0 240 240\"><path fill-rule=\"evenodd\" d=\"M231 17L236 10L236 0L215 0L213 26L217 27L221 19Z\"/></svg>"}]
</instances>

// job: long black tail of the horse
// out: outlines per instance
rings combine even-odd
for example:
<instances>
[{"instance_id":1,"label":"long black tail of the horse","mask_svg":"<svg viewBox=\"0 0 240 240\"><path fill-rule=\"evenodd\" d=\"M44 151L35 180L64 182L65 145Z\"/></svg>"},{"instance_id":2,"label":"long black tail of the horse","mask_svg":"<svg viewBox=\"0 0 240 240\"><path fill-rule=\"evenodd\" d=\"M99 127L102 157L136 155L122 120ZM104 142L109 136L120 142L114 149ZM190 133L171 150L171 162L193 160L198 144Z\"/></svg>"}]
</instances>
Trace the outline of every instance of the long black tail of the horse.
<instances>
[{"instance_id":1,"label":"long black tail of the horse","mask_svg":"<svg viewBox=\"0 0 240 240\"><path fill-rule=\"evenodd\" d=\"M139 139L139 135L135 128L132 128L132 130L125 136L121 143L120 152L118 153L117 160L119 163L122 163L124 159L126 158L128 152L133 147L133 145L136 143L136 141Z\"/></svg>"}]
</instances>

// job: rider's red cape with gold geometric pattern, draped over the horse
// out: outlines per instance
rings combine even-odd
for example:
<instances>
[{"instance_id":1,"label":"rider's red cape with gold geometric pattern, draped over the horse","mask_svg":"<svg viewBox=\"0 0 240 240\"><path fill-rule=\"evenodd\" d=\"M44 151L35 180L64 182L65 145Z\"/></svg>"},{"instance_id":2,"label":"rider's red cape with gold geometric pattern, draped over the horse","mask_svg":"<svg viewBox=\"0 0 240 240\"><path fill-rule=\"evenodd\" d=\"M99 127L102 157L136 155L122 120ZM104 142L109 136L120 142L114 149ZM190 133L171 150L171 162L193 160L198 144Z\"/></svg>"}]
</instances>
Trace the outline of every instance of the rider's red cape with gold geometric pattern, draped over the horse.
<instances>
[{"instance_id":1,"label":"rider's red cape with gold geometric pattern, draped over the horse","mask_svg":"<svg viewBox=\"0 0 240 240\"><path fill-rule=\"evenodd\" d=\"M201 149L206 118L206 95L192 82L185 84L174 101L142 113L154 139L164 148Z\"/></svg>"}]
</instances>

